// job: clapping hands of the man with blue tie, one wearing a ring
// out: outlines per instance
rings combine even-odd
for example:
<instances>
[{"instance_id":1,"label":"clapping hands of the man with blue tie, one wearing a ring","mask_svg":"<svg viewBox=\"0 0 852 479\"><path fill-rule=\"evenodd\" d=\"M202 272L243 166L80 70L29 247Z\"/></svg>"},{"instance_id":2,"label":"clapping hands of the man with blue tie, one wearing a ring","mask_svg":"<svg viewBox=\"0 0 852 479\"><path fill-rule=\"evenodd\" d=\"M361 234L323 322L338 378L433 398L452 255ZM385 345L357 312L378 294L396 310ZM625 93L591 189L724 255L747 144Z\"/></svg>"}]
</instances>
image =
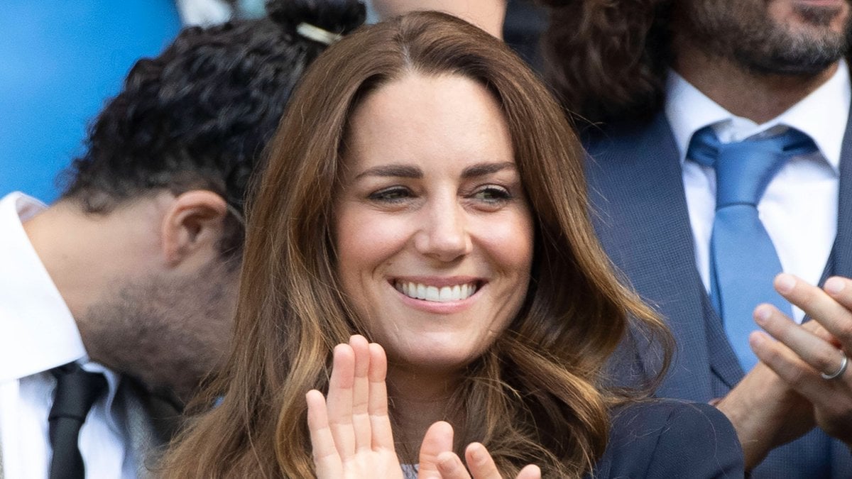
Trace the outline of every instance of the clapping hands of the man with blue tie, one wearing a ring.
<instances>
[{"instance_id":1,"label":"clapping hands of the man with blue tie, one wearing a ring","mask_svg":"<svg viewBox=\"0 0 852 479\"><path fill-rule=\"evenodd\" d=\"M761 304L751 349L760 362L717 403L734 423L751 469L769 453L814 426L852 446L852 280L833 277L812 286L779 274L774 286L803 309L799 325L779 309Z\"/></svg>"}]
</instances>

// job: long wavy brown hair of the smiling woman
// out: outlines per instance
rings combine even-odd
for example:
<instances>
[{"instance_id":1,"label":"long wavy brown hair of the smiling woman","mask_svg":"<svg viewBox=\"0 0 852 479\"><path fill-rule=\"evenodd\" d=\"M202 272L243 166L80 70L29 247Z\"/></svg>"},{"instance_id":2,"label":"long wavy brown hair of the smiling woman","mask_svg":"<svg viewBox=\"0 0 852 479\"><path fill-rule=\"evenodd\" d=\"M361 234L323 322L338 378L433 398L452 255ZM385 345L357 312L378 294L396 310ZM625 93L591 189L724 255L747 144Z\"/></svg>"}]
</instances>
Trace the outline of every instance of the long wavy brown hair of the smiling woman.
<instances>
[{"instance_id":1,"label":"long wavy brown hair of the smiling woman","mask_svg":"<svg viewBox=\"0 0 852 479\"><path fill-rule=\"evenodd\" d=\"M249 206L233 351L199 401L222 403L193 419L166 476L314 476L304 395L327 390L335 344L370 338L335 274L348 119L371 91L412 73L461 75L497 98L536 228L525 303L447 408L463 412L457 452L481 441L504 474L535 463L559 477L582 476L603 453L608 412L625 401L604 386L607 357L630 317L664 343L665 327L619 284L593 234L584 153L558 103L503 43L419 12L354 32L302 78Z\"/></svg>"}]
</instances>

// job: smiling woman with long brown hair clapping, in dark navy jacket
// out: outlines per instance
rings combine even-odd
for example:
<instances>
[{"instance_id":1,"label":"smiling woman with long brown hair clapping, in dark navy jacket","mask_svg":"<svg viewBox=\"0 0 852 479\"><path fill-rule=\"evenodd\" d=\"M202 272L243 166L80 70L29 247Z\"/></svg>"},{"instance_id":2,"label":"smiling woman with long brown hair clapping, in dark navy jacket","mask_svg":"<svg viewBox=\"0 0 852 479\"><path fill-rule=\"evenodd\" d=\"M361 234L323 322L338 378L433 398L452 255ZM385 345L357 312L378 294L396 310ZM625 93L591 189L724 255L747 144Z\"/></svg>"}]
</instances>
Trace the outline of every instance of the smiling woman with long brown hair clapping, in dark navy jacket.
<instances>
[{"instance_id":1,"label":"smiling woman with long brown hair clapping, in dark navy jacket","mask_svg":"<svg viewBox=\"0 0 852 479\"><path fill-rule=\"evenodd\" d=\"M561 108L502 43L445 14L369 26L289 112L201 401L222 404L168 476L741 475L721 413L607 389L631 320L668 336L594 238Z\"/></svg>"}]
</instances>

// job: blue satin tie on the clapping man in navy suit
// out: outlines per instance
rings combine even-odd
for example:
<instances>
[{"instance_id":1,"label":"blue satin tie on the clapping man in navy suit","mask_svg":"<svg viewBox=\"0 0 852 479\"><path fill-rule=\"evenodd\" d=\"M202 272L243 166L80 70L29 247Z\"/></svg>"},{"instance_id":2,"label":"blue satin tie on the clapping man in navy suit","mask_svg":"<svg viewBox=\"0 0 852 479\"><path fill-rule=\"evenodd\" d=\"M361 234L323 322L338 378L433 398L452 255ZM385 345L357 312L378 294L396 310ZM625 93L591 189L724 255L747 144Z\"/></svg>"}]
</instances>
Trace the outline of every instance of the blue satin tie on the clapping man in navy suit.
<instances>
[{"instance_id":1,"label":"blue satin tie on the clapping man in navy suit","mask_svg":"<svg viewBox=\"0 0 852 479\"><path fill-rule=\"evenodd\" d=\"M757 304L771 303L786 315L792 314L790 303L772 287L781 263L757 217L757 202L788 159L815 150L809 136L792 129L780 136L722 143L708 126L696 131L689 142L687 157L716 170L711 300L746 372L757 364L748 345Z\"/></svg>"}]
</instances>

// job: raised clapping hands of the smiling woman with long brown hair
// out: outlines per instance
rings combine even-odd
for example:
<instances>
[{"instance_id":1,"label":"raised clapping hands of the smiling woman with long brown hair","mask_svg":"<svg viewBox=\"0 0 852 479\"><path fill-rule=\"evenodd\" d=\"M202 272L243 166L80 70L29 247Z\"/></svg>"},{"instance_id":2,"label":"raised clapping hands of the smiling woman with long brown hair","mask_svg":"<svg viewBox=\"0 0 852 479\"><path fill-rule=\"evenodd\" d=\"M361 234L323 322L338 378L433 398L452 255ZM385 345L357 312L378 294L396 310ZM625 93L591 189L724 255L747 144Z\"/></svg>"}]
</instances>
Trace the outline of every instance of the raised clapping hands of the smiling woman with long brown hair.
<instances>
[{"instance_id":1,"label":"raised clapping hands of the smiling woman with long brown hair","mask_svg":"<svg viewBox=\"0 0 852 479\"><path fill-rule=\"evenodd\" d=\"M310 390L308 429L314 466L320 479L402 478L388 415L385 375L388 361L376 343L353 336L338 344L328 397ZM497 466L486 448L470 444L465 451L470 472L452 452L452 426L432 424L420 447L419 479L498 479ZM538 479L541 471L528 465L516 479Z\"/></svg>"}]
</instances>

